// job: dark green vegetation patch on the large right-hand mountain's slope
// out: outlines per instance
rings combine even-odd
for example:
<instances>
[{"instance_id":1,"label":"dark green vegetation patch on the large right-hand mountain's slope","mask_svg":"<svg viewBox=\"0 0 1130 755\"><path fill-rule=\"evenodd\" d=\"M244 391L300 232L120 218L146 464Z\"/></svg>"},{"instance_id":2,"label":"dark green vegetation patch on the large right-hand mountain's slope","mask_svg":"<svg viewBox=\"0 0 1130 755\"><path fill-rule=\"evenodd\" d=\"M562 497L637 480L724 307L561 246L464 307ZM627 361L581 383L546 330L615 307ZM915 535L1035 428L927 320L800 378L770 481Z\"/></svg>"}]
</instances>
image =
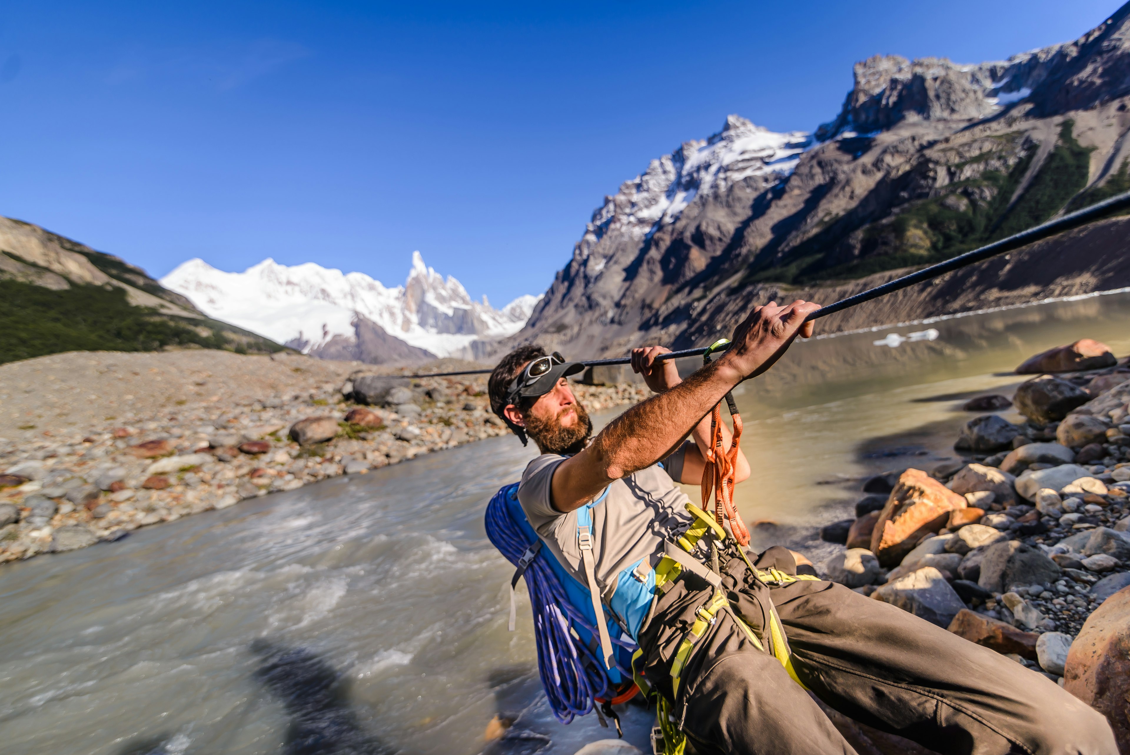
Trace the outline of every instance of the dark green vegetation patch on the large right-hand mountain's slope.
<instances>
[{"instance_id":1,"label":"dark green vegetation patch on the large right-hand mountain's slope","mask_svg":"<svg viewBox=\"0 0 1130 755\"><path fill-rule=\"evenodd\" d=\"M1093 148L1076 140L1075 122L1060 124L1059 138L1043 165L1012 201L1036 150L1028 149L1006 173L985 170L979 176L946 186L946 193L911 202L893 217L863 226L859 257L829 264L843 232L818 233L800 244L783 264L751 271L744 284L776 281L809 284L816 280L861 278L895 268L933 264L977 246L1038 225L1071 202L1069 209L1090 205L1130 189L1127 165L1102 186L1085 194ZM989 150L953 166L957 172L1015 149L1018 133L1002 134L1001 149ZM1076 198L1072 200L1072 198ZM832 259L829 259L832 258Z\"/></svg>"}]
</instances>

